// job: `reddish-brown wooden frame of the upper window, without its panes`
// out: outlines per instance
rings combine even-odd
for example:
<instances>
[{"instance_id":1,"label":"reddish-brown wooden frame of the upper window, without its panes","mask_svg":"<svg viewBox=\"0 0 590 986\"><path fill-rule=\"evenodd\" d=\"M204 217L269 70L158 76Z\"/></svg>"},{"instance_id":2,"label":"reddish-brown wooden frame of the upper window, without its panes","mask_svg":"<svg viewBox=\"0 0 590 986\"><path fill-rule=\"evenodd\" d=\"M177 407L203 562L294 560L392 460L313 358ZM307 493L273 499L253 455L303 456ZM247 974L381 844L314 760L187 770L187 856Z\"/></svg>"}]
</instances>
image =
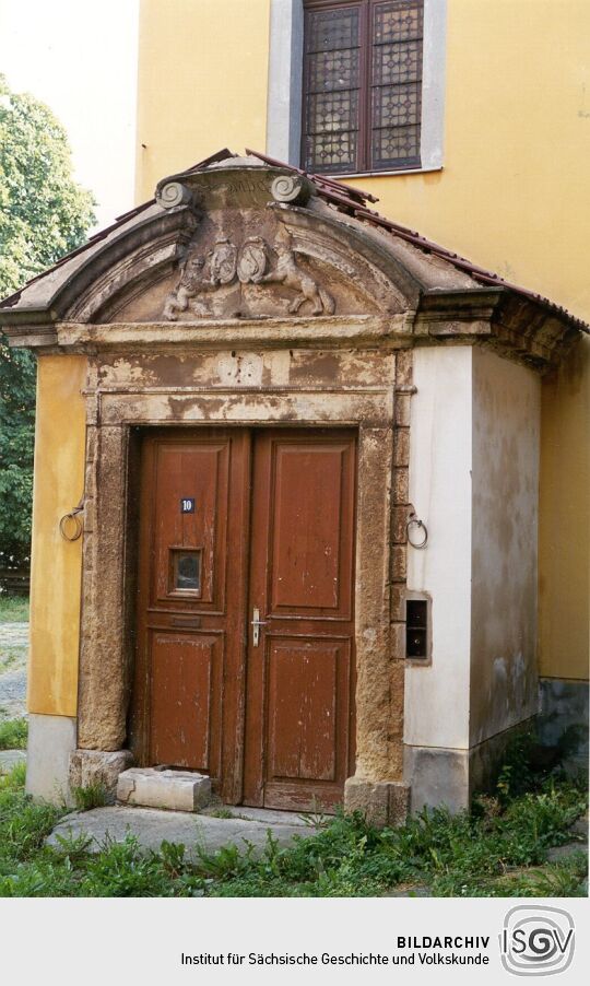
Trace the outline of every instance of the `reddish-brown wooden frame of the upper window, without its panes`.
<instances>
[{"instance_id":1,"label":"reddish-brown wooden frame of the upper window, without its panes","mask_svg":"<svg viewBox=\"0 0 590 986\"><path fill-rule=\"evenodd\" d=\"M414 171L423 171L423 125L424 125L424 62L425 62L425 51L426 51L426 9L428 5L428 0L421 0L422 2L422 60L421 60L421 71L420 71L420 120L418 120L418 153L416 155L400 157L397 163L391 165L382 166L377 165L374 167L374 146L373 146L373 134L374 128L373 124L373 92L375 89L375 84L371 78L371 68L373 68L373 52L376 48L376 44L374 40L374 11L380 4L387 3L388 0L303 0L302 2L302 14L304 19L303 25L303 51L302 51L302 96L300 96L300 149L299 149L299 166L302 168L306 167L306 157L307 157L307 138L308 131L306 129L306 118L307 118L307 96L309 93L308 86L308 68L307 68L307 50L306 50L306 24L305 19L308 12L314 11L333 11L333 10L343 10L346 7L357 7L359 8L359 66L358 66L358 129L357 133L357 146L355 154L355 164L353 169L337 169L337 171L322 171L317 172L318 174L333 175L334 177L340 177L344 175L371 175L371 174L396 174L397 172L414 172ZM314 171L314 168L310 168ZM317 169L316 169L317 171Z\"/></svg>"}]
</instances>

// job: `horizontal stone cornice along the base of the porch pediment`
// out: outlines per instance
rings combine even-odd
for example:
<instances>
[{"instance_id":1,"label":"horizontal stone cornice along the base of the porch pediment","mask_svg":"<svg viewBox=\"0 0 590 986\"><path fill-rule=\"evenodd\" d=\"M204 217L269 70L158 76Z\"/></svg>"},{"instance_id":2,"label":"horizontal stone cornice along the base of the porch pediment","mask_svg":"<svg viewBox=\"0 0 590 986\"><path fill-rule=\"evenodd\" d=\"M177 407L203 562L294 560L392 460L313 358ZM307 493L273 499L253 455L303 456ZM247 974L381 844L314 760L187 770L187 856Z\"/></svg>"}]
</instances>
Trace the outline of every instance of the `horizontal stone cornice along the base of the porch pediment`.
<instances>
[{"instance_id":1,"label":"horizontal stone cornice along the base of the porch pediment","mask_svg":"<svg viewBox=\"0 0 590 986\"><path fill-rule=\"evenodd\" d=\"M190 352L227 349L400 349L479 344L544 372L578 333L540 306L503 289L432 293L416 312L401 315L110 322L35 321L7 328L12 347L40 354Z\"/></svg>"}]
</instances>

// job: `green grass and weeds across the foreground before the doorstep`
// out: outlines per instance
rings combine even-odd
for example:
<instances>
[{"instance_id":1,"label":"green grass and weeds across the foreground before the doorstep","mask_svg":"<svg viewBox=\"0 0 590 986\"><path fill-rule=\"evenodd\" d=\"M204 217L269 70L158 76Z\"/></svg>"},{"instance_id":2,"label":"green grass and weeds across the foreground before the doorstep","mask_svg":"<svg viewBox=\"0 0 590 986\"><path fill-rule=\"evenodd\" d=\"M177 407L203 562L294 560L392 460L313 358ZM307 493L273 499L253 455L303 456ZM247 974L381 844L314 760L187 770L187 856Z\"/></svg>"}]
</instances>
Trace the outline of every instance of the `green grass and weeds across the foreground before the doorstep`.
<instances>
[{"instance_id":1,"label":"green grass and weeds across the foreground before the doorstep","mask_svg":"<svg viewBox=\"0 0 590 986\"><path fill-rule=\"evenodd\" d=\"M81 838L44 845L66 808L33 803L19 767L0 778L0 896L380 896L425 887L432 896L582 896L586 857L547 864L573 840L585 784L554 774L522 793L482 796L471 813L423 812L399 829L339 814L281 848L228 845L215 854L128 836L97 854Z\"/></svg>"}]
</instances>

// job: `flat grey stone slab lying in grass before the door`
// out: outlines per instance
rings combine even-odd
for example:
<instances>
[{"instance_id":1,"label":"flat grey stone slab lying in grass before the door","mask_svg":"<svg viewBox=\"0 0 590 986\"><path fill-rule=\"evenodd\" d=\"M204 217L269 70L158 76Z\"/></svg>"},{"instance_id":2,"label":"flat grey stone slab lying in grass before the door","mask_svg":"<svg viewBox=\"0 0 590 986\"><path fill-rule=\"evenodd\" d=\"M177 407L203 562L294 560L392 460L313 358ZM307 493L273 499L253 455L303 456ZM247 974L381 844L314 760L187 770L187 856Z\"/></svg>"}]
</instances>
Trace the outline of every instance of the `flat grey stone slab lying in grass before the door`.
<instances>
[{"instance_id":1,"label":"flat grey stone slab lying in grass before the door","mask_svg":"<svg viewBox=\"0 0 590 986\"><path fill-rule=\"evenodd\" d=\"M261 852L267 844L269 829L282 846L288 845L295 835L308 838L317 832L315 827L303 824L267 824L250 819L220 819L185 811L117 806L72 812L56 825L46 842L48 845L57 845L58 835L76 837L85 834L92 840L91 852L97 853L107 836L122 842L130 833L137 836L145 849L158 849L166 840L182 843L187 855L194 857L197 846L214 853L232 843L240 849L246 849L247 844L251 843Z\"/></svg>"}]
</instances>

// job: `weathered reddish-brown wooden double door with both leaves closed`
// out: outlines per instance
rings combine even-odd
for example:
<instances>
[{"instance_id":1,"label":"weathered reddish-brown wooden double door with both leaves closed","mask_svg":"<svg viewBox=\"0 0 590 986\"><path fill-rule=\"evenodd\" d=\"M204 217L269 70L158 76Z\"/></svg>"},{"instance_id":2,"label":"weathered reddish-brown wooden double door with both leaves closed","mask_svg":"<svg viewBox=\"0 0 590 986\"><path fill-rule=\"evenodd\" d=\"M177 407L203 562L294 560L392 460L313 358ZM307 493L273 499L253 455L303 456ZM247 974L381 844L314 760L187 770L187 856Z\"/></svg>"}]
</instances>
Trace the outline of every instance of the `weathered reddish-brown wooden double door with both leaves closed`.
<instances>
[{"instance_id":1,"label":"weathered reddish-brown wooden double door with both leaves closed","mask_svg":"<svg viewBox=\"0 0 590 986\"><path fill-rule=\"evenodd\" d=\"M209 774L232 803L342 800L354 759L355 477L352 431L144 438L140 762Z\"/></svg>"}]
</instances>

